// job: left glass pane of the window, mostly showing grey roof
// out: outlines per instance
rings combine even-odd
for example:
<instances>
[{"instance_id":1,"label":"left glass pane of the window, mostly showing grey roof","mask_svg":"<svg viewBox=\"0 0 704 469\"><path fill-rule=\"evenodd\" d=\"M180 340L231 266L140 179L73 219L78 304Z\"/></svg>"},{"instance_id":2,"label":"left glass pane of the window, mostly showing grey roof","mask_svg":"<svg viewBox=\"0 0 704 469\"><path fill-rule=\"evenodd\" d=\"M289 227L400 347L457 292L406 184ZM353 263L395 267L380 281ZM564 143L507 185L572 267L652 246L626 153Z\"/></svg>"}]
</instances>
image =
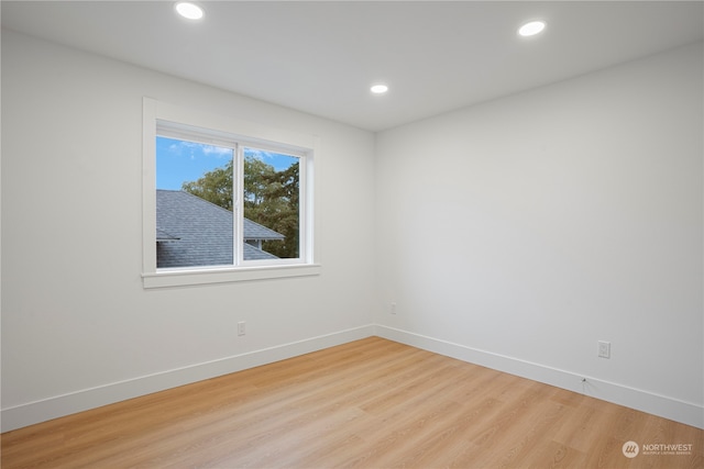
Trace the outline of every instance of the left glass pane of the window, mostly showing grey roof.
<instances>
[{"instance_id":1,"label":"left glass pane of the window, mostly showing grey roof","mask_svg":"<svg viewBox=\"0 0 704 469\"><path fill-rule=\"evenodd\" d=\"M234 150L156 137L156 267L232 265Z\"/></svg>"}]
</instances>

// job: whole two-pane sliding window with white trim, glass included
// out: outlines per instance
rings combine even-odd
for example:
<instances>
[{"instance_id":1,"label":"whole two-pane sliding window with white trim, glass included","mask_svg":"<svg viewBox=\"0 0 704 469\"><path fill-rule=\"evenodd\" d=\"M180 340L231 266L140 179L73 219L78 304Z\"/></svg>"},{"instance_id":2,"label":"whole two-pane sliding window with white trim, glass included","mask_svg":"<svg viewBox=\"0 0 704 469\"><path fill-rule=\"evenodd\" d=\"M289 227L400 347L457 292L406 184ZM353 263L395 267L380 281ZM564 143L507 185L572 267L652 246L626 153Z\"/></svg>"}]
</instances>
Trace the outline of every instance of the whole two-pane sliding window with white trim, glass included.
<instances>
[{"instance_id":1,"label":"whole two-pane sliding window with white trim, glass included","mask_svg":"<svg viewBox=\"0 0 704 469\"><path fill-rule=\"evenodd\" d=\"M316 146L145 98L145 288L318 273Z\"/></svg>"}]
</instances>

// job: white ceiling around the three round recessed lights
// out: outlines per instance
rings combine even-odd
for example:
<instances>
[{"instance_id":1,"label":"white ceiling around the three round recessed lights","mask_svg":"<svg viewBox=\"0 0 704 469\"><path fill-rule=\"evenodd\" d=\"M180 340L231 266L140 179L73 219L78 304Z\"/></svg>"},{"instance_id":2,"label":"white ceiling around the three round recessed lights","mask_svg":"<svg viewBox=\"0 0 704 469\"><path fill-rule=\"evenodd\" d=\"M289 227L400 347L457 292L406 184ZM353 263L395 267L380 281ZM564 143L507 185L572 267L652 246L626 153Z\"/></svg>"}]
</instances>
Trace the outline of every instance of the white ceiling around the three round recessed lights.
<instances>
[{"instance_id":1,"label":"white ceiling around the three round recessed lights","mask_svg":"<svg viewBox=\"0 0 704 469\"><path fill-rule=\"evenodd\" d=\"M371 131L704 37L702 1L198 3L2 1L2 26Z\"/></svg>"}]
</instances>

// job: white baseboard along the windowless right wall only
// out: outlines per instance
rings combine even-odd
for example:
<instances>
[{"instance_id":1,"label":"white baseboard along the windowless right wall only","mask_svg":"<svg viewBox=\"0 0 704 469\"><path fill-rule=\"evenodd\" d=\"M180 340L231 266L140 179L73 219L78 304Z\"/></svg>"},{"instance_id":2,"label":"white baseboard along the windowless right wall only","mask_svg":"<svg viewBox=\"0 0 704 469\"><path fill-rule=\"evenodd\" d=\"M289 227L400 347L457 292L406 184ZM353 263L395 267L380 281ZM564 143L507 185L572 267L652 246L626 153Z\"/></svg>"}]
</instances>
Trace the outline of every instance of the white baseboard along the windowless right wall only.
<instances>
[{"instance_id":1,"label":"white baseboard along the windowless right wall only","mask_svg":"<svg viewBox=\"0 0 704 469\"><path fill-rule=\"evenodd\" d=\"M690 402L383 325L376 325L375 335L704 428L704 407ZM582 381L583 378L586 379L585 382Z\"/></svg>"}]
</instances>

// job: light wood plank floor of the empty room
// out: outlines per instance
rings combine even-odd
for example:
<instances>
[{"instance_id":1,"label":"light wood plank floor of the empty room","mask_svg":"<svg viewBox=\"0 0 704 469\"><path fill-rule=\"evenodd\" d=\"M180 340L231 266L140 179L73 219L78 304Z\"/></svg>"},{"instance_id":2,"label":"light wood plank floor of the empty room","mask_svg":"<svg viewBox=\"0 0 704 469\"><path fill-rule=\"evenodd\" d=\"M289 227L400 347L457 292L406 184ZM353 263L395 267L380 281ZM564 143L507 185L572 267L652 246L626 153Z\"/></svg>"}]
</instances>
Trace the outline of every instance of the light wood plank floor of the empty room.
<instances>
[{"instance_id":1,"label":"light wood plank floor of the empty room","mask_svg":"<svg viewBox=\"0 0 704 469\"><path fill-rule=\"evenodd\" d=\"M691 444L632 459L623 445ZM704 432L378 337L2 435L2 468L697 468Z\"/></svg>"}]
</instances>

